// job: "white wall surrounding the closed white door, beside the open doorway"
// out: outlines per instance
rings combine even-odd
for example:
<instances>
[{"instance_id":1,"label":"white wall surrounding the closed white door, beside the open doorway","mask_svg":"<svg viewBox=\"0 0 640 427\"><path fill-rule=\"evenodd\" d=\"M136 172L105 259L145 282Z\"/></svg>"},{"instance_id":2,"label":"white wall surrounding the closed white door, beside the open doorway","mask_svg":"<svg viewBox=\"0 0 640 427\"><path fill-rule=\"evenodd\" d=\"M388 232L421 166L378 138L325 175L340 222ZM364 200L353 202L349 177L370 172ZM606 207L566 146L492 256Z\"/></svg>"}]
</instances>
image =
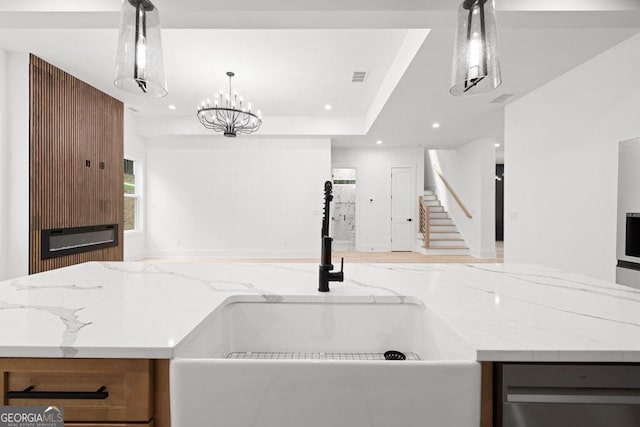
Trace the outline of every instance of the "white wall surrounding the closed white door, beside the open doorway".
<instances>
[{"instance_id":1,"label":"white wall surrounding the closed white door, beside the open doorway","mask_svg":"<svg viewBox=\"0 0 640 427\"><path fill-rule=\"evenodd\" d=\"M356 250L390 251L391 168L414 169L414 221L417 224L417 195L424 190L424 150L419 147L335 148L332 150L331 164L333 168L356 169Z\"/></svg>"}]
</instances>

